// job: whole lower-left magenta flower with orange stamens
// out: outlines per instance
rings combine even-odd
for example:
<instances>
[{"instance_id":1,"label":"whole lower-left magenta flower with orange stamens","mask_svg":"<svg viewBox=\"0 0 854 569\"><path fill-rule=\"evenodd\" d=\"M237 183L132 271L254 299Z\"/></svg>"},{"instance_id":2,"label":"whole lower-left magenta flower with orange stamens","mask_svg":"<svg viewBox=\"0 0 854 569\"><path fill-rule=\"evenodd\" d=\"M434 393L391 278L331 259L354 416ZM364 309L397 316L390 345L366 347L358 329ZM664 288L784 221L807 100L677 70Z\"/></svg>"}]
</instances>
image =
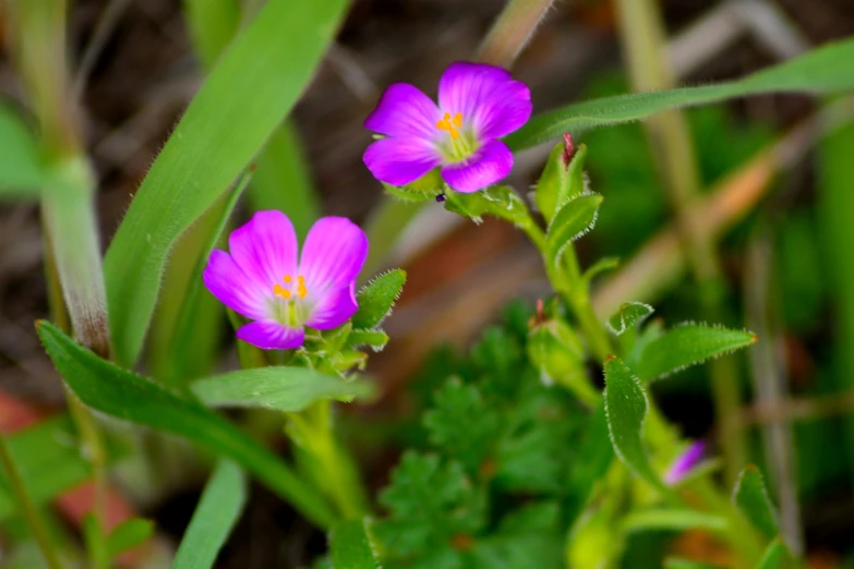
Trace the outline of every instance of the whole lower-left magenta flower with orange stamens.
<instances>
[{"instance_id":1,"label":"whole lower-left magenta flower with orange stamens","mask_svg":"<svg viewBox=\"0 0 854 569\"><path fill-rule=\"evenodd\" d=\"M368 237L352 221L324 217L309 231L298 261L297 233L281 211L256 213L214 250L203 274L219 301L250 318L238 338L265 350L299 348L303 326L336 328L356 313L356 277Z\"/></svg>"}]
</instances>

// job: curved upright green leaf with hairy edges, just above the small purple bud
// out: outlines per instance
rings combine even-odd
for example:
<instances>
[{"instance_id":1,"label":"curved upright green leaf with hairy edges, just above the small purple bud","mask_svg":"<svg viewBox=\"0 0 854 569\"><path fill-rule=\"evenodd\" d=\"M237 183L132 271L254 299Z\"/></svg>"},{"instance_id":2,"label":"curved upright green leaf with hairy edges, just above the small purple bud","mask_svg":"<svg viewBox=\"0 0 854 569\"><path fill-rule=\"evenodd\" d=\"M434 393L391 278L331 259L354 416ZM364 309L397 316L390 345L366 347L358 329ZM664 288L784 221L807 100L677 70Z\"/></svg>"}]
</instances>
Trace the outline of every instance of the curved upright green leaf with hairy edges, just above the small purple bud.
<instances>
[{"instance_id":1,"label":"curved upright green leaf with hairy edges, just above the small purple bud","mask_svg":"<svg viewBox=\"0 0 854 569\"><path fill-rule=\"evenodd\" d=\"M640 441L640 431L647 416L647 396L638 378L616 358L605 362L605 413L617 457L650 485L667 492L652 470Z\"/></svg>"}]
</instances>

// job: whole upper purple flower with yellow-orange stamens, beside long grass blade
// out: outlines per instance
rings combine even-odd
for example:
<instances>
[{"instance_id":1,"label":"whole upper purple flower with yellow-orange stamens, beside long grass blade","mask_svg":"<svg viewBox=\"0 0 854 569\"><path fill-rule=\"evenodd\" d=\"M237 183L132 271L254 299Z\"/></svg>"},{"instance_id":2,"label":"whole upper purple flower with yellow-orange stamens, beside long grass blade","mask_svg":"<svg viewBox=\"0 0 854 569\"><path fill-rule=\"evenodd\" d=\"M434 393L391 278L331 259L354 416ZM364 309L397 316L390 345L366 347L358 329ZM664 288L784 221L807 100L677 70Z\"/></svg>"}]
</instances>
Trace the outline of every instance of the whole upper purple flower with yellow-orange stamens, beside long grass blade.
<instances>
[{"instance_id":1,"label":"whole upper purple flower with yellow-orange stamens, beside long grass blade","mask_svg":"<svg viewBox=\"0 0 854 569\"><path fill-rule=\"evenodd\" d=\"M531 116L531 93L501 68L453 63L438 82L438 106L407 83L389 85L365 128L384 134L364 153L374 178L405 185L441 166L458 192L505 178L513 154L498 137Z\"/></svg>"}]
</instances>

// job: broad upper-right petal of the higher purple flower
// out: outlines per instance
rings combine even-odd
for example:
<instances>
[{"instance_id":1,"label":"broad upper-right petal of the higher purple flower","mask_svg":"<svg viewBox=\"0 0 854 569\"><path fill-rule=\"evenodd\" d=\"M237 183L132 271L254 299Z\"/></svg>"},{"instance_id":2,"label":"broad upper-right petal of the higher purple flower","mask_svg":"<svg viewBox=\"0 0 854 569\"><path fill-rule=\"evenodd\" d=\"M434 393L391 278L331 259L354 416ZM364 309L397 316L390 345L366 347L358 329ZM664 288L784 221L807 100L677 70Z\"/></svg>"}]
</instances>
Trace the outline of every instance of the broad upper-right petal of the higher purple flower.
<instances>
[{"instance_id":1,"label":"broad upper-right petal of the higher purple flower","mask_svg":"<svg viewBox=\"0 0 854 569\"><path fill-rule=\"evenodd\" d=\"M528 122L533 106L525 83L502 68L485 63L452 63L438 83L443 112L461 113L481 140L497 138Z\"/></svg>"}]
</instances>

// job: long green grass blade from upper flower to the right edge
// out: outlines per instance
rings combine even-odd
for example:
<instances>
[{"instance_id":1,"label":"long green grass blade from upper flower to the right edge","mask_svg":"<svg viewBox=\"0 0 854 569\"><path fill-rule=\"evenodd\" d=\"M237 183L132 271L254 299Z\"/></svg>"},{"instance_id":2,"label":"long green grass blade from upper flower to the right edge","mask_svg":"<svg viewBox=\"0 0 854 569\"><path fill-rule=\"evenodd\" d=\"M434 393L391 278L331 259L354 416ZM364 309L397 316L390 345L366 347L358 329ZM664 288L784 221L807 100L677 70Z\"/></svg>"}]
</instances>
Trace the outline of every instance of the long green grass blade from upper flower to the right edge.
<instances>
[{"instance_id":1,"label":"long green grass blade from upper flower to the right edge","mask_svg":"<svg viewBox=\"0 0 854 569\"><path fill-rule=\"evenodd\" d=\"M513 150L556 140L596 126L642 120L679 107L707 105L762 93L843 93L854 89L849 62L854 39L829 43L799 58L765 69L741 81L658 93L637 93L586 100L540 113L505 142Z\"/></svg>"}]
</instances>

